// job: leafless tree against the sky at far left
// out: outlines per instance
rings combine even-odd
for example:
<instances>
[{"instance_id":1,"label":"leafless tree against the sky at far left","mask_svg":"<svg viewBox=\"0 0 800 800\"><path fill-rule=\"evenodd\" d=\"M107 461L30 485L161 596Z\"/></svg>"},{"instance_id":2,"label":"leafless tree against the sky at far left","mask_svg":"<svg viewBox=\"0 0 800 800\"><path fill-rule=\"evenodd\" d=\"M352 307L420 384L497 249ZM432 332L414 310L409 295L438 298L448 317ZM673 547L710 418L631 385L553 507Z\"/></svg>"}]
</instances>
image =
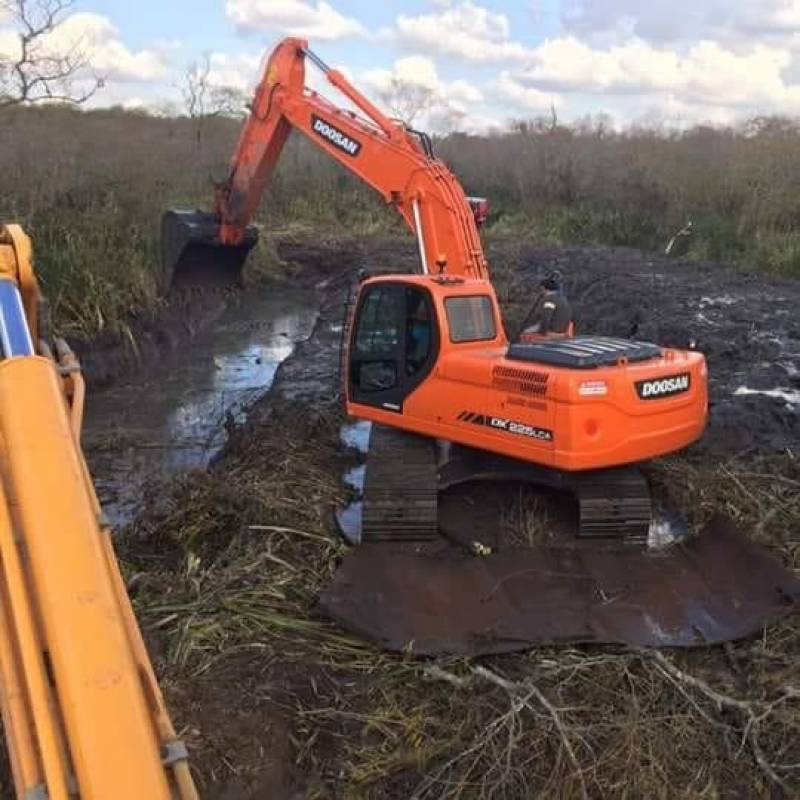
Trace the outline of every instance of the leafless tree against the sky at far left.
<instances>
[{"instance_id":1,"label":"leafless tree against the sky at far left","mask_svg":"<svg viewBox=\"0 0 800 800\"><path fill-rule=\"evenodd\" d=\"M16 52L0 54L0 109L47 100L80 104L103 86L89 71L81 42L53 47L52 34L72 5L73 0L0 0L0 19L10 17L18 36Z\"/></svg>"}]
</instances>

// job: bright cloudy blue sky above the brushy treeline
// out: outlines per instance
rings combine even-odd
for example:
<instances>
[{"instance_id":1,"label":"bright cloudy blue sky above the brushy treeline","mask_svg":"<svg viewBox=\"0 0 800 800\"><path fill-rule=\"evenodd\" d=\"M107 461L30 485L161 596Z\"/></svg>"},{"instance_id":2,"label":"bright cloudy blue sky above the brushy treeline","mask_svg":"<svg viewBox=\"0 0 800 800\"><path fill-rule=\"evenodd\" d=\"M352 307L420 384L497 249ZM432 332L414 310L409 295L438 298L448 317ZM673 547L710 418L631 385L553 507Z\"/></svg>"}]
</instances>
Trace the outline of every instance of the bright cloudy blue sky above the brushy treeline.
<instances>
[{"instance_id":1,"label":"bright cloudy blue sky above the brushy treeline","mask_svg":"<svg viewBox=\"0 0 800 800\"><path fill-rule=\"evenodd\" d=\"M12 23L0 11L0 55ZM179 110L190 64L249 94L287 35L379 104L416 88L415 125L433 132L800 114L800 0L76 0L53 40L103 76L92 104Z\"/></svg>"}]
</instances>

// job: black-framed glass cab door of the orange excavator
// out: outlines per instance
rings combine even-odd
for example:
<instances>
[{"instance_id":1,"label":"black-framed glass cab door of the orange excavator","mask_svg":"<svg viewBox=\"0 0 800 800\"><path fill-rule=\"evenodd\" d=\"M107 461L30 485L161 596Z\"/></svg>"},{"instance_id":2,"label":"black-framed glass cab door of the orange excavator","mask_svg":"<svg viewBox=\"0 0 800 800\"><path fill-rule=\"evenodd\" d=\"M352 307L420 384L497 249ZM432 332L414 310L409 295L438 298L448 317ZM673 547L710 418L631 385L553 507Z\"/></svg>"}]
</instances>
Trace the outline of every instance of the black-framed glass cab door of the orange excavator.
<instances>
[{"instance_id":1,"label":"black-framed glass cab door of the orange excavator","mask_svg":"<svg viewBox=\"0 0 800 800\"><path fill-rule=\"evenodd\" d=\"M430 293L402 281L367 284L356 305L348 352L350 401L402 413L439 352Z\"/></svg>"}]
</instances>

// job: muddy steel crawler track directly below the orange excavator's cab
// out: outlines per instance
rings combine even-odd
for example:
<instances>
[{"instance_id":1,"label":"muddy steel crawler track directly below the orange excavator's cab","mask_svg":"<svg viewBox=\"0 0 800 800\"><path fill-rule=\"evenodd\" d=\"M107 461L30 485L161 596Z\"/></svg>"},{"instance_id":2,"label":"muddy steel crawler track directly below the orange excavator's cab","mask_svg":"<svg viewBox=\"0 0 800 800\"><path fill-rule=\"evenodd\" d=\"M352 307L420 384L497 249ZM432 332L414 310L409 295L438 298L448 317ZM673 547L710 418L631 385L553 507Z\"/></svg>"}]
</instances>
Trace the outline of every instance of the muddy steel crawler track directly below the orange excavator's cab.
<instances>
[{"instance_id":1,"label":"muddy steel crawler track directly below the orange excavator's cab","mask_svg":"<svg viewBox=\"0 0 800 800\"><path fill-rule=\"evenodd\" d=\"M437 494L434 442L373 424L364 480L362 541L434 541Z\"/></svg>"}]
</instances>

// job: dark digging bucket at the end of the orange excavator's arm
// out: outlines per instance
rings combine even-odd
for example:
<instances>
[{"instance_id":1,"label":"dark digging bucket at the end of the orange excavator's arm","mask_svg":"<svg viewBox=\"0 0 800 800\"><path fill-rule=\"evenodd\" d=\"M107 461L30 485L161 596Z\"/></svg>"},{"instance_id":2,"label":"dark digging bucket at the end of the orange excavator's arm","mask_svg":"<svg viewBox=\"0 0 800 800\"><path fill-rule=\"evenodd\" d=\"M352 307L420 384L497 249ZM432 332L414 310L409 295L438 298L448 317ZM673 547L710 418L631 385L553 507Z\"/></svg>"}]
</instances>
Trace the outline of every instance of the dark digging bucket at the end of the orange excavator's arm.
<instances>
[{"instance_id":1,"label":"dark digging bucket at the end of the orange excavator's arm","mask_svg":"<svg viewBox=\"0 0 800 800\"><path fill-rule=\"evenodd\" d=\"M258 242L248 226L240 244L220 241L219 220L205 211L167 211L161 218L161 263L167 291L240 286L242 269Z\"/></svg>"}]
</instances>

